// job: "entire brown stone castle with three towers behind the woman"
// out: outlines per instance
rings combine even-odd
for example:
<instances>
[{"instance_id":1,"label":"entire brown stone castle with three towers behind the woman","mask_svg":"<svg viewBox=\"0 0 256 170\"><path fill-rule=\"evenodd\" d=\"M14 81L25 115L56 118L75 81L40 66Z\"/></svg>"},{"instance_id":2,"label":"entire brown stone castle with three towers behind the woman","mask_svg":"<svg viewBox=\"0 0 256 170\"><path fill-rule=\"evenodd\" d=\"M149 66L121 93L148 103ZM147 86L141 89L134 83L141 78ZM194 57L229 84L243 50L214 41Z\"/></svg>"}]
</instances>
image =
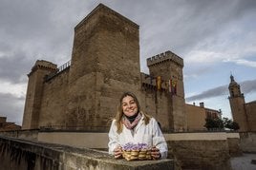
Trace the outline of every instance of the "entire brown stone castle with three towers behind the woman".
<instances>
[{"instance_id":1,"label":"entire brown stone castle with three towers behind the woman","mask_svg":"<svg viewBox=\"0 0 256 170\"><path fill-rule=\"evenodd\" d=\"M108 131L119 96L132 91L164 130L186 129L182 59L167 51L147 64L150 75L140 73L139 26L99 4L75 27L71 62L57 68L37 61L32 67L22 128ZM156 77L160 89L152 82ZM165 84L170 79L174 95Z\"/></svg>"}]
</instances>

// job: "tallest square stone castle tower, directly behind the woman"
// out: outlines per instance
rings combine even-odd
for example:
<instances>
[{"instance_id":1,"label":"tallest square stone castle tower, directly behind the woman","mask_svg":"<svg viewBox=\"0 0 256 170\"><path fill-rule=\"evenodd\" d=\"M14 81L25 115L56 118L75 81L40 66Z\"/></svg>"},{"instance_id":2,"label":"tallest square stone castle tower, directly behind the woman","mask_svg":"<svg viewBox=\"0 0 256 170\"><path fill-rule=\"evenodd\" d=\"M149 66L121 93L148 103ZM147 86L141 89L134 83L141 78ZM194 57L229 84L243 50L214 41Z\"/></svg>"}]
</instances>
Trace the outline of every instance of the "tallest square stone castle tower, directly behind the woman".
<instances>
[{"instance_id":1,"label":"tallest square stone castle tower, directly behind the woman","mask_svg":"<svg viewBox=\"0 0 256 170\"><path fill-rule=\"evenodd\" d=\"M139 26L99 5L75 27L71 63L66 124L105 129L120 94L139 91Z\"/></svg>"}]
</instances>

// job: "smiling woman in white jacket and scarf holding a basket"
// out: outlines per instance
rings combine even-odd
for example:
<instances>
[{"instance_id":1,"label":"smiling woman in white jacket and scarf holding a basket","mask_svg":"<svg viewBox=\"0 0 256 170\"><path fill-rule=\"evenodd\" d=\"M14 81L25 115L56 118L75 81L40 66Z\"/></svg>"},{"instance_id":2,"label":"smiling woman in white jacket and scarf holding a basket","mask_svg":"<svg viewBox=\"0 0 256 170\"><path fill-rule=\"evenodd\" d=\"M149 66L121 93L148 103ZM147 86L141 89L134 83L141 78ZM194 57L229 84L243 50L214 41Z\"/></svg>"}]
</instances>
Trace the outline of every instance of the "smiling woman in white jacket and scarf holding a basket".
<instances>
[{"instance_id":1,"label":"smiling woman in white jacket and scarf holding a basket","mask_svg":"<svg viewBox=\"0 0 256 170\"><path fill-rule=\"evenodd\" d=\"M121 158L125 143L143 142L152 146L151 157L154 160L165 159L168 149L158 122L140 111L139 101L133 93L125 92L119 102L109 131L109 153Z\"/></svg>"}]
</instances>

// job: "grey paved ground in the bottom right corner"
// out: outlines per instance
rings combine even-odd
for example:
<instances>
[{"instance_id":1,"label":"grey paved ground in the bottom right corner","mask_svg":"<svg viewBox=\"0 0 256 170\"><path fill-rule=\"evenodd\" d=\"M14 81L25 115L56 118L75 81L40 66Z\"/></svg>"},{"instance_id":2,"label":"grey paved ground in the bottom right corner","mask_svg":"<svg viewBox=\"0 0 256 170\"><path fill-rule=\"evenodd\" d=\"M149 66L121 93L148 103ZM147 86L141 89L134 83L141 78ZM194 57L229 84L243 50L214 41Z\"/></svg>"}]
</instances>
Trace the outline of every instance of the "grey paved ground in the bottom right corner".
<instances>
[{"instance_id":1,"label":"grey paved ground in the bottom right corner","mask_svg":"<svg viewBox=\"0 0 256 170\"><path fill-rule=\"evenodd\" d=\"M231 158L233 170L256 170L256 164L251 160L256 160L256 154L243 154L242 157Z\"/></svg>"}]
</instances>

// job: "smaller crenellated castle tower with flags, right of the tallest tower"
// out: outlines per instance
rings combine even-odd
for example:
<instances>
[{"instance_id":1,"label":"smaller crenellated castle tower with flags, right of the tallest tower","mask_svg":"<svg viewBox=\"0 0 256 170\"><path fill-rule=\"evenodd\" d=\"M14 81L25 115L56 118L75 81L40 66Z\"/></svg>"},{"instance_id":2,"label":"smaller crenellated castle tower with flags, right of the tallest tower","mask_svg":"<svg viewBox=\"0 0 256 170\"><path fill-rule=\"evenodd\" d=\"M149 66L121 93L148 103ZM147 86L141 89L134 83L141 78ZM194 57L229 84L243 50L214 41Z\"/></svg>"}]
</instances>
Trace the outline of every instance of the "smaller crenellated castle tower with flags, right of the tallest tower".
<instances>
[{"instance_id":1,"label":"smaller crenellated castle tower with flags, right of the tallest tower","mask_svg":"<svg viewBox=\"0 0 256 170\"><path fill-rule=\"evenodd\" d=\"M155 117L160 120L160 123L163 123L163 127L169 127L166 130L185 130L187 123L184 110L183 60L175 53L166 51L160 55L148 58L147 66L149 67L150 74L146 76L147 79L152 79L152 77L158 79L160 77L161 81L160 90L156 89L157 87L153 92L146 90L145 96L148 96L150 93L157 94L156 99L153 100L155 103L148 103L146 105L146 108L151 107L148 109L148 112L154 110L151 114L154 115L156 113ZM175 91L170 91L170 84L175 84L175 89L173 89ZM145 89L149 84L144 83L142 85ZM153 106L156 109L152 108ZM167 114L164 115L164 113Z\"/></svg>"}]
</instances>

